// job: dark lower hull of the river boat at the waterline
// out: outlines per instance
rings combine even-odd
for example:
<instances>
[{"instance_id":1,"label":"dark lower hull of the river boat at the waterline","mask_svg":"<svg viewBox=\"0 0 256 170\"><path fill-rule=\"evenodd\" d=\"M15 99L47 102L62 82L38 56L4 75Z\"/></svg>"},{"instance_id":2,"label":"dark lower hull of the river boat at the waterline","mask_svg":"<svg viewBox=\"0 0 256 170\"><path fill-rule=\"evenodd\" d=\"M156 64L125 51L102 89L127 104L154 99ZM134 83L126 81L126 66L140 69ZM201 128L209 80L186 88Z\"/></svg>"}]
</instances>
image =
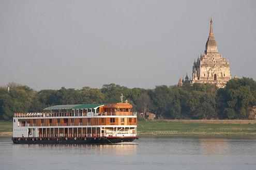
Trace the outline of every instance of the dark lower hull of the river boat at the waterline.
<instances>
[{"instance_id":1,"label":"dark lower hull of the river boat at the waterline","mask_svg":"<svg viewBox=\"0 0 256 170\"><path fill-rule=\"evenodd\" d=\"M132 142L138 137L118 138L12 138L14 144L111 144Z\"/></svg>"}]
</instances>

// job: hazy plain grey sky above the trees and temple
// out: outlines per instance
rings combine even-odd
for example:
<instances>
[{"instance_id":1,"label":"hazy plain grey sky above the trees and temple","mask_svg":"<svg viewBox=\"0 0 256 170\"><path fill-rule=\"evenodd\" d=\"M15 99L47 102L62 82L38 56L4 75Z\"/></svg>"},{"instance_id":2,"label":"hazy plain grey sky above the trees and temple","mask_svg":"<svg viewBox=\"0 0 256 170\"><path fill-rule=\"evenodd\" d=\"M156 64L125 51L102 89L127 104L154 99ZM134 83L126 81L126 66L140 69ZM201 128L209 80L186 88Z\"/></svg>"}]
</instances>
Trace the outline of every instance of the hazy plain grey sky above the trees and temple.
<instances>
[{"instance_id":1,"label":"hazy plain grey sky above the trees and temple","mask_svg":"<svg viewBox=\"0 0 256 170\"><path fill-rule=\"evenodd\" d=\"M256 79L256 1L0 1L0 84L177 84L209 20L231 74Z\"/></svg>"}]
</instances>

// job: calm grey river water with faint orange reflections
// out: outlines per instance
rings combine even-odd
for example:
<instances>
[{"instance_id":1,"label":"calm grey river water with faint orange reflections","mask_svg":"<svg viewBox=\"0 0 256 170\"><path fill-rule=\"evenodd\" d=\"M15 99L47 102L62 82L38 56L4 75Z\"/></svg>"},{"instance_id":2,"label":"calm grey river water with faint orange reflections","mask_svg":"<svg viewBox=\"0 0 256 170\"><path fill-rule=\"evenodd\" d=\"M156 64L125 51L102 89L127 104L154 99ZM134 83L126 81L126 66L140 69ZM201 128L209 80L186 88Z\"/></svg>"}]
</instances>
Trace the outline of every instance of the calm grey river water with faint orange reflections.
<instances>
[{"instance_id":1,"label":"calm grey river water with faint orange reflections","mask_svg":"<svg viewBox=\"0 0 256 170\"><path fill-rule=\"evenodd\" d=\"M116 145L27 145L1 137L0 169L256 169L256 139L140 138Z\"/></svg>"}]
</instances>

